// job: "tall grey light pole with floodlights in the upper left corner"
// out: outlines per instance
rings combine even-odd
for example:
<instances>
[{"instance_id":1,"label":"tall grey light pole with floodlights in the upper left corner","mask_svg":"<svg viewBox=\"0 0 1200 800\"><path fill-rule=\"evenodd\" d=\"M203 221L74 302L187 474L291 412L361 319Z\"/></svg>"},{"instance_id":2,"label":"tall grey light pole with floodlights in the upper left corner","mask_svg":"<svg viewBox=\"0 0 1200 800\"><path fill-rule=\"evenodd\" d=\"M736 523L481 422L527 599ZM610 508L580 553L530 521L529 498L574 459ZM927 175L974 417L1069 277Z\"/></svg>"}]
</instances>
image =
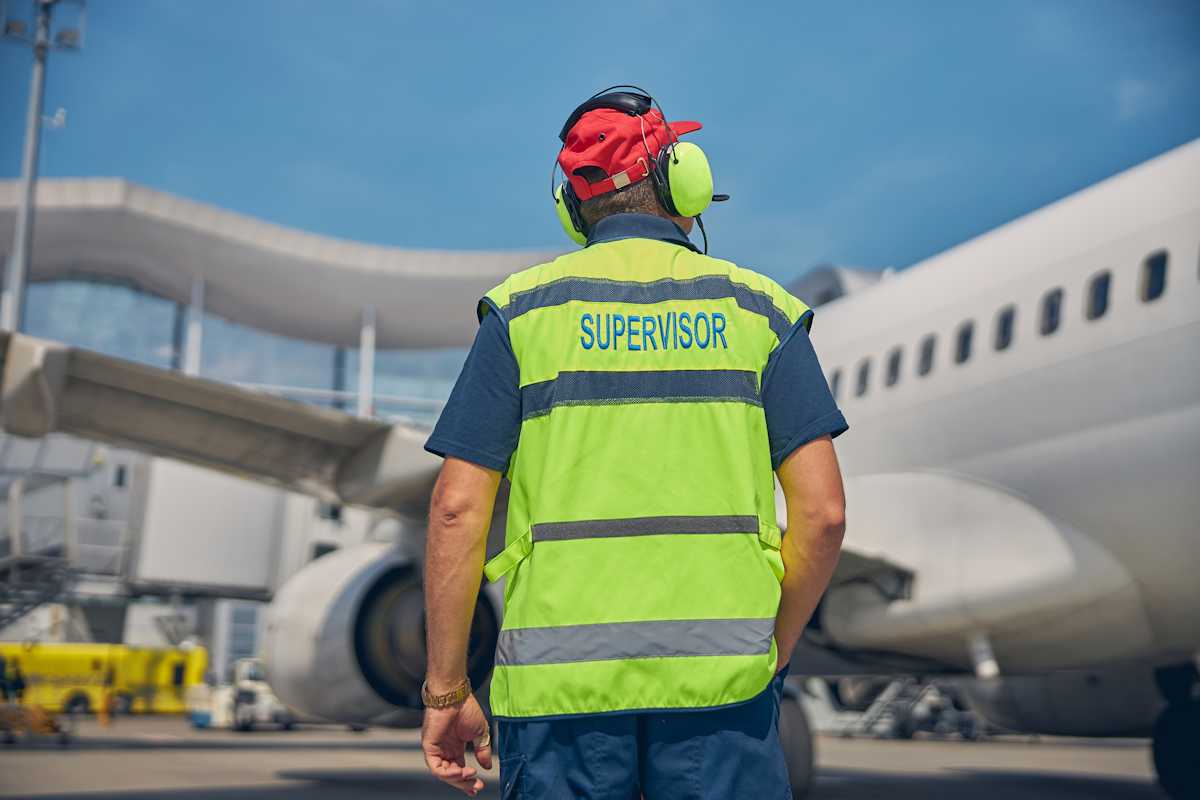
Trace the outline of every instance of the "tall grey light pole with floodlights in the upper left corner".
<instances>
[{"instance_id":1,"label":"tall grey light pole with floodlights in the upper left corner","mask_svg":"<svg viewBox=\"0 0 1200 800\"><path fill-rule=\"evenodd\" d=\"M25 118L25 151L20 162L20 200L17 205L17 229L12 237L12 254L5 275L4 297L0 299L0 330L20 330L20 314L25 300L25 276L29 272L34 246L34 199L37 191L37 151L42 134L42 96L46 89L46 55L50 47L77 50L83 44L84 1L71 0L79 11L78 28L60 30L50 40L50 11L67 0L32 0L34 36L26 34L25 23L8 19L7 5L0 5L4 35L28 42L34 48L34 74L29 84L29 112Z\"/></svg>"}]
</instances>

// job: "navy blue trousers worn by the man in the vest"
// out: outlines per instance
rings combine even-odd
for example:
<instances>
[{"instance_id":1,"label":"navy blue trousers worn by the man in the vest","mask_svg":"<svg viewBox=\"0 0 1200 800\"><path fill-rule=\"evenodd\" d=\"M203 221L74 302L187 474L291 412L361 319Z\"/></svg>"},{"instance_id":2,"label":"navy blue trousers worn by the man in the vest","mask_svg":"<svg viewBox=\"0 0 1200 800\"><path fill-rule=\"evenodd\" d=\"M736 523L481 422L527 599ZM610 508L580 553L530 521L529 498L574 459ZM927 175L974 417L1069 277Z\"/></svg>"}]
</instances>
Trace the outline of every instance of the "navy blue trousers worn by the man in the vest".
<instances>
[{"instance_id":1,"label":"navy blue trousers worn by the man in the vest","mask_svg":"<svg viewBox=\"0 0 1200 800\"><path fill-rule=\"evenodd\" d=\"M786 670L754 699L698 711L499 720L500 796L784 800Z\"/></svg>"}]
</instances>

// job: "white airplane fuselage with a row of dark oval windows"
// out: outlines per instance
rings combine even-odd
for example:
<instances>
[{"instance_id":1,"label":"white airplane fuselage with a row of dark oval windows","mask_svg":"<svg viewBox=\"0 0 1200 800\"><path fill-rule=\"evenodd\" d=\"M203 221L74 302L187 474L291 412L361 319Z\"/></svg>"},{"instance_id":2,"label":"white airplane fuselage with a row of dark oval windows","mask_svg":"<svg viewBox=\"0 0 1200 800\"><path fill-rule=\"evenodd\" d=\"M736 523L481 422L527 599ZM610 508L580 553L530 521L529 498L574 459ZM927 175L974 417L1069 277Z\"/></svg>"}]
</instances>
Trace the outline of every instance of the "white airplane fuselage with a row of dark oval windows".
<instances>
[{"instance_id":1,"label":"white airplane fuselage with a row of dark oval windows","mask_svg":"<svg viewBox=\"0 0 1200 800\"><path fill-rule=\"evenodd\" d=\"M998 487L1127 573L1122 630L1078 608L1038 668L1086 666L1081 637L1163 663L1200 651L1198 187L1192 143L817 312L848 477Z\"/></svg>"}]
</instances>

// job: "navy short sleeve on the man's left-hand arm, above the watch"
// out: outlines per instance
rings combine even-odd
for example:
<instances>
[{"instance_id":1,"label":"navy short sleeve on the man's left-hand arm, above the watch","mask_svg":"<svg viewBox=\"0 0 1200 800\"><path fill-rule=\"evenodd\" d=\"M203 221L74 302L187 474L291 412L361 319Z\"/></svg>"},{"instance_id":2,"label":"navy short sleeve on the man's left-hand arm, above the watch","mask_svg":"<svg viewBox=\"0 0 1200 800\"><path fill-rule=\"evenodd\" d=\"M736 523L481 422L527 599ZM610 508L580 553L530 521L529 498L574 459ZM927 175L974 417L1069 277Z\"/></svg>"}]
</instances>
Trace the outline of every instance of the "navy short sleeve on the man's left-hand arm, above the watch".
<instances>
[{"instance_id":1,"label":"navy short sleeve on the man's left-hand arm, above the watch","mask_svg":"<svg viewBox=\"0 0 1200 800\"><path fill-rule=\"evenodd\" d=\"M504 318L499 313L481 317L425 449L503 473L521 437L521 372Z\"/></svg>"}]
</instances>

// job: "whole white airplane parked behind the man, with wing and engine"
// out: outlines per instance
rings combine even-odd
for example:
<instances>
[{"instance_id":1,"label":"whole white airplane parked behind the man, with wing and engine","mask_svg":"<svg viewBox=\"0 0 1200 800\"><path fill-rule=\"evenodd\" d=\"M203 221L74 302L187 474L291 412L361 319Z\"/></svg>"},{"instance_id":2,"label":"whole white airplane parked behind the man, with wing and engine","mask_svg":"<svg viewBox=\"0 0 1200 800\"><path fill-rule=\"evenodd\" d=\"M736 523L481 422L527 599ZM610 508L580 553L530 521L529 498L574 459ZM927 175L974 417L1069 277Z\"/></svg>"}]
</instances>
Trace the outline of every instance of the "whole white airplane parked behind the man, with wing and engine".
<instances>
[{"instance_id":1,"label":"whole white airplane parked behind the man, with wing and engine","mask_svg":"<svg viewBox=\"0 0 1200 800\"><path fill-rule=\"evenodd\" d=\"M1200 140L902 272L803 282L858 288L815 325L852 426L838 440L848 525L799 672L960 675L1016 730L1152 730L1163 786L1200 794L1198 255ZM265 660L306 712L419 718L420 519L438 467L422 432L20 335L0 344L10 433L112 441L416 521L398 546L296 573L272 601ZM481 591L476 684L499 609ZM799 795L812 751L798 703L785 747Z\"/></svg>"}]
</instances>

